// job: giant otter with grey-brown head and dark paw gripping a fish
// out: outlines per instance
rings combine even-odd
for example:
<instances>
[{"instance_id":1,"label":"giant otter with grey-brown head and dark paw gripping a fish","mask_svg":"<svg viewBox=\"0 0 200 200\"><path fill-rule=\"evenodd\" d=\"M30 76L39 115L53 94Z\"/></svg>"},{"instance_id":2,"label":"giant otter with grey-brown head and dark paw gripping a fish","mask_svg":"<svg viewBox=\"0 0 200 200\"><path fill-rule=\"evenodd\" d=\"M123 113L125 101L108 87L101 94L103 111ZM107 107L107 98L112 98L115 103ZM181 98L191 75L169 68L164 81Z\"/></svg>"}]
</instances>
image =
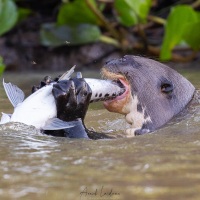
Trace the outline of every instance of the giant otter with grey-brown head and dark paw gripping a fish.
<instances>
[{"instance_id":1,"label":"giant otter with grey-brown head and dark paw gripping a fish","mask_svg":"<svg viewBox=\"0 0 200 200\"><path fill-rule=\"evenodd\" d=\"M127 55L111 60L103 66L101 73L104 78L116 80L125 88L122 95L104 101L104 106L108 111L125 115L126 121L131 124L131 128L126 130L128 136L141 135L160 128L186 107L195 92L194 86L178 72L144 57ZM77 91L80 91L80 86L84 83L80 102L76 100L80 98L77 92L71 92L66 86L63 90L61 83L54 85L58 118L79 118L81 128L76 131L80 131L80 137L87 137L87 130L81 124L90 103L90 89L86 87L84 79L74 79L73 82ZM83 98L84 95L87 98ZM60 103L62 99L68 99L68 102ZM70 112L73 119L65 118L65 113ZM72 128L67 132L71 134L74 130Z\"/></svg>"}]
</instances>

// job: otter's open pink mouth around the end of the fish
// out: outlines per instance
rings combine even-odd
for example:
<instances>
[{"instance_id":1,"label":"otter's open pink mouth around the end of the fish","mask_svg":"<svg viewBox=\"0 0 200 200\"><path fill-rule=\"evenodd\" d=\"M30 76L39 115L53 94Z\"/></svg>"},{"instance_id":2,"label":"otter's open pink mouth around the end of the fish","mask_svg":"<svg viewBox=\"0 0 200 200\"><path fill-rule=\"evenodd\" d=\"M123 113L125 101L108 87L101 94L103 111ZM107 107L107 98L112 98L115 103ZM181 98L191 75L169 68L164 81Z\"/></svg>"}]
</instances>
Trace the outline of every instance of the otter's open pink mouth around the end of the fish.
<instances>
[{"instance_id":1,"label":"otter's open pink mouth around the end of the fish","mask_svg":"<svg viewBox=\"0 0 200 200\"><path fill-rule=\"evenodd\" d=\"M115 84L117 84L120 88L123 89L122 92L116 97L104 101L104 105L110 104L115 101L120 101L127 97L127 95L130 93L130 84L122 74L115 74L113 72L108 71L105 68L102 69L101 73L103 78L112 80L113 82L115 82Z\"/></svg>"}]
</instances>

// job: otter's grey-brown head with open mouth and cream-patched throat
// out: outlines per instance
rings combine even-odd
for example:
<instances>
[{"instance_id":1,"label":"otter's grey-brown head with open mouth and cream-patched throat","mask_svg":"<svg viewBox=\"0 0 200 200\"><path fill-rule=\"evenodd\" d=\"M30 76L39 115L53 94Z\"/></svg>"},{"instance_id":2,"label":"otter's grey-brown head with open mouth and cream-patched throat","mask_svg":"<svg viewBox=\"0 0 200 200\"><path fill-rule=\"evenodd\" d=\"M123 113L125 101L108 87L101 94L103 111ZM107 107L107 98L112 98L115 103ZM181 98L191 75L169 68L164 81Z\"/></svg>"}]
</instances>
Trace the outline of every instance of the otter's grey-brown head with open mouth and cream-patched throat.
<instances>
[{"instance_id":1,"label":"otter's grey-brown head with open mouth and cream-patched throat","mask_svg":"<svg viewBox=\"0 0 200 200\"><path fill-rule=\"evenodd\" d=\"M125 92L104 102L111 112L126 116L129 135L151 132L178 114L192 99L194 86L175 70L157 61L124 56L102 68L107 79L120 82Z\"/></svg>"}]
</instances>

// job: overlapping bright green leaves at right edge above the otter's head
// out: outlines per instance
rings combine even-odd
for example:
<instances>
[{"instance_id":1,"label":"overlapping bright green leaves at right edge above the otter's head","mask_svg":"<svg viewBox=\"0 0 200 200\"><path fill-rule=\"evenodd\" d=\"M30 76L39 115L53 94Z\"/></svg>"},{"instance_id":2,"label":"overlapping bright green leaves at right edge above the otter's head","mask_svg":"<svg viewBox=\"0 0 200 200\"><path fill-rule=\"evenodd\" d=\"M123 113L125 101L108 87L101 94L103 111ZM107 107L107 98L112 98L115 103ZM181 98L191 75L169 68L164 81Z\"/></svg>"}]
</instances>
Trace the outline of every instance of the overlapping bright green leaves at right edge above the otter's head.
<instances>
[{"instance_id":1,"label":"overlapping bright green leaves at right edge above the otter's head","mask_svg":"<svg viewBox=\"0 0 200 200\"><path fill-rule=\"evenodd\" d=\"M171 58L172 49L181 43L186 43L194 50L200 49L200 12L190 6L175 6L165 24L161 59Z\"/></svg>"}]
</instances>

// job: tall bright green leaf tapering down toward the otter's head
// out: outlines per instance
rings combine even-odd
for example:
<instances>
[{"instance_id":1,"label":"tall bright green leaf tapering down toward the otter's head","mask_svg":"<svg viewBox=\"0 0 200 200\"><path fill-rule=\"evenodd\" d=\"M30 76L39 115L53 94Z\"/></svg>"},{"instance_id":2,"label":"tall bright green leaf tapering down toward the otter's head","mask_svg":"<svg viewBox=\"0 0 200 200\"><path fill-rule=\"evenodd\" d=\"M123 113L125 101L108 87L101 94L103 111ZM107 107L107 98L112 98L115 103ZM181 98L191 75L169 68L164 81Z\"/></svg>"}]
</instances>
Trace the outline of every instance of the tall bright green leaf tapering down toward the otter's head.
<instances>
[{"instance_id":1,"label":"tall bright green leaf tapering down toward the otter's head","mask_svg":"<svg viewBox=\"0 0 200 200\"><path fill-rule=\"evenodd\" d=\"M161 60L171 58L172 49L184 39L183 34L187 30L186 27L197 21L198 15L190 6L176 6L171 10L165 25L165 35L160 54Z\"/></svg>"}]
</instances>

